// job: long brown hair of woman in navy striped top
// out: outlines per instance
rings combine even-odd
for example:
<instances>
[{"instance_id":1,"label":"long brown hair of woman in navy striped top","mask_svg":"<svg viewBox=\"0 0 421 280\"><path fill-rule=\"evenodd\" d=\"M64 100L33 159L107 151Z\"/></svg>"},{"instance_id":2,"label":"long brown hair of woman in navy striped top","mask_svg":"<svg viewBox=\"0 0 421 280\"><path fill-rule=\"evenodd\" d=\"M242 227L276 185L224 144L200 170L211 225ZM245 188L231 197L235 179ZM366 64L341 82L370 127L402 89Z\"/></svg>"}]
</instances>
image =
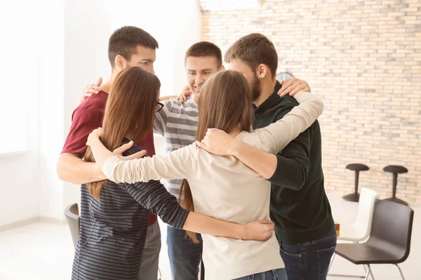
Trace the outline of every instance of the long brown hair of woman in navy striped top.
<instances>
[{"instance_id":1,"label":"long brown hair of woman in navy striped top","mask_svg":"<svg viewBox=\"0 0 421 280\"><path fill-rule=\"evenodd\" d=\"M131 67L117 75L105 106L100 140L113 151L124 137L138 142L150 132L154 122L156 99L161 83L153 73ZM91 147L86 150L86 162L95 162ZM89 193L97 200L107 180L88 183Z\"/></svg>"}]
</instances>

